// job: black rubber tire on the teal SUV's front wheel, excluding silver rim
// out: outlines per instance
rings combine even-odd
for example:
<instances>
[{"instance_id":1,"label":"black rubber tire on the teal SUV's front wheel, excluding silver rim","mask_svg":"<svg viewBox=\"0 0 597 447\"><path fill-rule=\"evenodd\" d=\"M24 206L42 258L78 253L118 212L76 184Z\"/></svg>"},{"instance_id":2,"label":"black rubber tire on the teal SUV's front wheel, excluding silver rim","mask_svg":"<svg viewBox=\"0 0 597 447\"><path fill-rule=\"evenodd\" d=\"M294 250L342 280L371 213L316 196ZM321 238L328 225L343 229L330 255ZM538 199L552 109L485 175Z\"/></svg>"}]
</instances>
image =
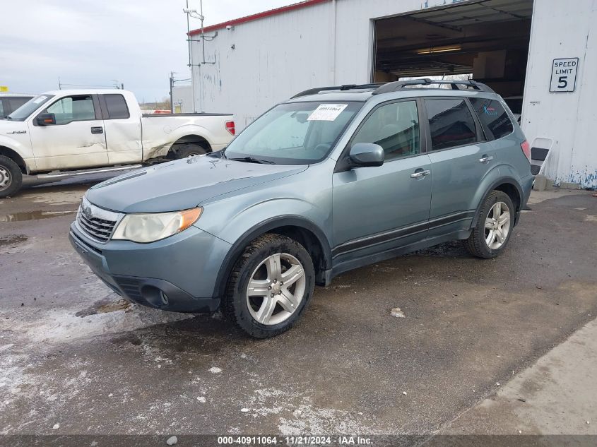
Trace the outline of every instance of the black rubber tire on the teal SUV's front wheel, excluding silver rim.
<instances>
[{"instance_id":1,"label":"black rubber tire on the teal SUV's front wheel, excluding silver rim","mask_svg":"<svg viewBox=\"0 0 597 447\"><path fill-rule=\"evenodd\" d=\"M264 267L260 267L261 264L264 263L269 256L275 254L283 254L283 256L290 255L294 257L295 260L299 261L300 264L302 264L302 269L305 273L305 280L304 282L301 282L301 285L304 287L304 293L302 293L302 299L297 304L290 316L285 317L288 312L284 314L283 307L280 306L280 304L275 305L276 307L274 308L274 314L272 318L281 316L282 318L287 318L285 321L281 321L280 323L263 324L257 321L252 314L252 311L249 309L249 306L254 306L253 312L255 313L256 309L261 308L259 306L259 301L256 303L249 303L250 299L247 297L247 287L249 286L249 280L252 279L252 275ZM282 269L284 269L284 266L282 266ZM297 285L299 282L297 281L294 284L296 285L290 287L298 287ZM302 287L300 288L302 289ZM315 272L313 268L313 261L307 250L305 250L301 244L288 237L272 233L264 234L255 239L247 246L246 249L244 249L244 252L236 262L235 267L232 269L232 273L230 273L230 277L228 278L226 294L222 303L222 311L228 320L230 320L238 328L243 330L251 337L274 337L295 325L298 318L300 318L303 311L305 311L307 304L313 295L314 287ZM294 291L296 292L297 289L295 288ZM273 296L273 294L271 296ZM259 297L256 299L259 300ZM261 297L261 300L265 299L267 298ZM261 304L263 303L264 301L261 301ZM278 314L275 313L276 309L278 309Z\"/></svg>"}]
</instances>

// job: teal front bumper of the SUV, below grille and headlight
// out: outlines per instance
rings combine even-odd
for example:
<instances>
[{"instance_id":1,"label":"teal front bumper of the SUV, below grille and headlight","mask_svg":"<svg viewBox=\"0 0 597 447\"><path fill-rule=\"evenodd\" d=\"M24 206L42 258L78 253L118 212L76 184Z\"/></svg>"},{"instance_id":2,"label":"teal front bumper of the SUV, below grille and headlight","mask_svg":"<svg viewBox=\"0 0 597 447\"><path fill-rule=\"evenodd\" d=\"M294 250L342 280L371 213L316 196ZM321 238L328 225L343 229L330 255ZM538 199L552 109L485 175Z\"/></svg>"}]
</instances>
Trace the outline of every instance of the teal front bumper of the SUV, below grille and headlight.
<instances>
[{"instance_id":1,"label":"teal front bumper of the SUV, below grille and headlight","mask_svg":"<svg viewBox=\"0 0 597 447\"><path fill-rule=\"evenodd\" d=\"M98 278L131 302L190 313L220 306L215 278L230 244L195 227L152 244L97 244L73 224L69 241Z\"/></svg>"}]
</instances>

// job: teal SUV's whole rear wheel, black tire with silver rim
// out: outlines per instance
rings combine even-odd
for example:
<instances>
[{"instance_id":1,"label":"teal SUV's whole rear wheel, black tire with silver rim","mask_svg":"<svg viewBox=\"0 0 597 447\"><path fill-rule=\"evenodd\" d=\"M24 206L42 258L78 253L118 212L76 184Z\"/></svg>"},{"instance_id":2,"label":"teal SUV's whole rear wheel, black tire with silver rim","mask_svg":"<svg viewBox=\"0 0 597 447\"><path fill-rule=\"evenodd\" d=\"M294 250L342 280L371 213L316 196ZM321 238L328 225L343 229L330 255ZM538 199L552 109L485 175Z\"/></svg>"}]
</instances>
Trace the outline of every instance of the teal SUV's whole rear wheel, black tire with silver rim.
<instances>
[{"instance_id":1,"label":"teal SUV's whole rear wheel, black tire with silver rim","mask_svg":"<svg viewBox=\"0 0 597 447\"><path fill-rule=\"evenodd\" d=\"M514 204L507 193L492 191L481 205L477 225L464 240L468 253L495 258L508 244L514 227Z\"/></svg>"}]
</instances>

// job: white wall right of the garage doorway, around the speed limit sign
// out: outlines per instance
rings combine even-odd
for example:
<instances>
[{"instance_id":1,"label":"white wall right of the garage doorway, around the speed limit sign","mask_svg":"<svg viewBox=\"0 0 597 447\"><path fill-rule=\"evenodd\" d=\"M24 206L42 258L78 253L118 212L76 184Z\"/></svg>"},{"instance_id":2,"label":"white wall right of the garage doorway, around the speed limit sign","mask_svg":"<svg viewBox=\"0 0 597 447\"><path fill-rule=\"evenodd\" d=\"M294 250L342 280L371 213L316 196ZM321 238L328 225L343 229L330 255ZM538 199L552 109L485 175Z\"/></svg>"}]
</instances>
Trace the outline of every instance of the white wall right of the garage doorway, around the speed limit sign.
<instances>
[{"instance_id":1,"label":"white wall right of the garage doorway, around the speed limit sign","mask_svg":"<svg viewBox=\"0 0 597 447\"><path fill-rule=\"evenodd\" d=\"M576 90L550 93L553 59L572 57ZM597 0L535 0L524 98L528 141L553 141L545 175L597 188Z\"/></svg>"}]
</instances>

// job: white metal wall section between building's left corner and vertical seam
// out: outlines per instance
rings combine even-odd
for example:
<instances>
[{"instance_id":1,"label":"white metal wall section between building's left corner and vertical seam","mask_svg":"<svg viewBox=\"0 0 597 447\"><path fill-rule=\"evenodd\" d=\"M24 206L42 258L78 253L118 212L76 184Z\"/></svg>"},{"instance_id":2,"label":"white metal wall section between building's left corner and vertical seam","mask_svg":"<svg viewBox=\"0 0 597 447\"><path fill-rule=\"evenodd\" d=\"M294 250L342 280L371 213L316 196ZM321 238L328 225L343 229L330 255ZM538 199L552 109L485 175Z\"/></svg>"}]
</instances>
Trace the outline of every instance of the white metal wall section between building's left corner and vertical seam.
<instances>
[{"instance_id":1,"label":"white metal wall section between building's left corner and vertical seam","mask_svg":"<svg viewBox=\"0 0 597 447\"><path fill-rule=\"evenodd\" d=\"M194 70L201 110L232 112L243 129L299 90L328 84L330 21L329 4L319 4L218 30L206 42L206 61L215 64ZM193 49L193 64L201 63L201 42Z\"/></svg>"}]
</instances>

